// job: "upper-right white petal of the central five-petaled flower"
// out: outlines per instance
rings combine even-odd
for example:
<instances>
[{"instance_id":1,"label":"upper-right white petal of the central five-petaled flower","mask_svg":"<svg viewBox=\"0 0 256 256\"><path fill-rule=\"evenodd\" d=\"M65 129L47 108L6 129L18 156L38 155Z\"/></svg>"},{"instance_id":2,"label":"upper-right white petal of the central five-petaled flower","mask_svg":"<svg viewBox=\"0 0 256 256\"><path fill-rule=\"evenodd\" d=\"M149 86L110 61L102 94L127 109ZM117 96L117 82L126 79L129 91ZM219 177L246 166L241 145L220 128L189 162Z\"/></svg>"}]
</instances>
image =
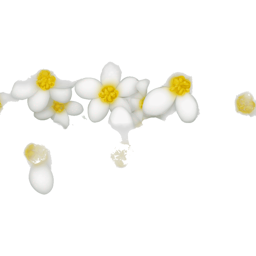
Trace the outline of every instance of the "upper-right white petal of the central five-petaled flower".
<instances>
[{"instance_id":1,"label":"upper-right white petal of the central five-petaled flower","mask_svg":"<svg viewBox=\"0 0 256 256\"><path fill-rule=\"evenodd\" d=\"M119 85L116 87L118 90L119 97L127 97L137 92L136 84L138 79L135 77L128 76L124 78Z\"/></svg>"}]
</instances>

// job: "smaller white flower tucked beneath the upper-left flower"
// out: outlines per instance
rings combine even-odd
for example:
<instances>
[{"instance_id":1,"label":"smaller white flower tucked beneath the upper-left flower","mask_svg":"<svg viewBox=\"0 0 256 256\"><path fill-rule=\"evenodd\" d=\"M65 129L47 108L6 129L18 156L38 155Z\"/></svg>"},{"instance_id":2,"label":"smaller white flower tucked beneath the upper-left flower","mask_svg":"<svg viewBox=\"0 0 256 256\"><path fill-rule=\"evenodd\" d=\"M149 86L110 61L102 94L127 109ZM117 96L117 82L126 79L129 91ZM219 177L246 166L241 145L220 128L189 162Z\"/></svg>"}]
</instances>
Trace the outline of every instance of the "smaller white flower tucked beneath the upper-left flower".
<instances>
[{"instance_id":1,"label":"smaller white flower tucked beneath the upper-left flower","mask_svg":"<svg viewBox=\"0 0 256 256\"><path fill-rule=\"evenodd\" d=\"M51 97L44 110L34 113L34 117L38 120L47 120L51 118L54 123L61 125L63 129L69 126L69 117L82 114L84 111L83 106L76 101L69 101L61 103L54 101Z\"/></svg>"}]
</instances>

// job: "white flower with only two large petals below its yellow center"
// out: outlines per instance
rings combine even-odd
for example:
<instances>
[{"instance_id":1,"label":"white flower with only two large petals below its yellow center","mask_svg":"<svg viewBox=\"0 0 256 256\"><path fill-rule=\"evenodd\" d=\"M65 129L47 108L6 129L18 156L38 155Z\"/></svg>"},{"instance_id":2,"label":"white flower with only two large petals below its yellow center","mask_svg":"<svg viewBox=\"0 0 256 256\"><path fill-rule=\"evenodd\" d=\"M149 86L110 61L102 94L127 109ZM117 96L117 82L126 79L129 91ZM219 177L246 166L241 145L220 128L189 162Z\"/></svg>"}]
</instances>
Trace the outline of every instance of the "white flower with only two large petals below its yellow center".
<instances>
[{"instance_id":1,"label":"white flower with only two large petals below its yellow center","mask_svg":"<svg viewBox=\"0 0 256 256\"><path fill-rule=\"evenodd\" d=\"M192 123L198 116L199 109L196 99L189 92L192 92L192 77L176 72L167 79L164 86L147 94L142 110L146 115L166 114L175 101L176 112L181 121Z\"/></svg>"}]
</instances>

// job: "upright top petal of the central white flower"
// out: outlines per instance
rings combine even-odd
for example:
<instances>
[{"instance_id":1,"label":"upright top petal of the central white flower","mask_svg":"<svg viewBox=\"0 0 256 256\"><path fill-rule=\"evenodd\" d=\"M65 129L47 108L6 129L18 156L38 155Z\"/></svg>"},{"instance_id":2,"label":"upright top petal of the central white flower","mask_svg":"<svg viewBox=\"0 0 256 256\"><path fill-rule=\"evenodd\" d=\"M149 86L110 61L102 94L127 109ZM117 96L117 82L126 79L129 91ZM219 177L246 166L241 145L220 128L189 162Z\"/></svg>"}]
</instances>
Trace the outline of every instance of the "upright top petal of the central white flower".
<instances>
[{"instance_id":1,"label":"upright top petal of the central white flower","mask_svg":"<svg viewBox=\"0 0 256 256\"><path fill-rule=\"evenodd\" d=\"M115 87L121 81L121 69L113 62L108 62L102 69L100 81L103 85L112 84Z\"/></svg>"}]
</instances>

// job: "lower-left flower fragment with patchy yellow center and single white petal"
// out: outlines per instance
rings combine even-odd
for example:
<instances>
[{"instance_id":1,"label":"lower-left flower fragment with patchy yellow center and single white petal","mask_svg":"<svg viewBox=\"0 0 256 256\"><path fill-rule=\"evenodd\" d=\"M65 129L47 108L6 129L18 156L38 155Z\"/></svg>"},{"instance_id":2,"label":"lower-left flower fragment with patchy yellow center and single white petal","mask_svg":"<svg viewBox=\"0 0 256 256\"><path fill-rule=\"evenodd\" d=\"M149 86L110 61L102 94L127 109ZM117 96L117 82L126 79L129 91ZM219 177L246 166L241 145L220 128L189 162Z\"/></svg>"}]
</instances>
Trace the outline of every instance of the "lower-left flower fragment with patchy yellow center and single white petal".
<instances>
[{"instance_id":1,"label":"lower-left flower fragment with patchy yellow center and single white petal","mask_svg":"<svg viewBox=\"0 0 256 256\"><path fill-rule=\"evenodd\" d=\"M43 145L29 143L24 156L30 166L28 179L31 186L40 194L48 194L53 188L50 151Z\"/></svg>"}]
</instances>

